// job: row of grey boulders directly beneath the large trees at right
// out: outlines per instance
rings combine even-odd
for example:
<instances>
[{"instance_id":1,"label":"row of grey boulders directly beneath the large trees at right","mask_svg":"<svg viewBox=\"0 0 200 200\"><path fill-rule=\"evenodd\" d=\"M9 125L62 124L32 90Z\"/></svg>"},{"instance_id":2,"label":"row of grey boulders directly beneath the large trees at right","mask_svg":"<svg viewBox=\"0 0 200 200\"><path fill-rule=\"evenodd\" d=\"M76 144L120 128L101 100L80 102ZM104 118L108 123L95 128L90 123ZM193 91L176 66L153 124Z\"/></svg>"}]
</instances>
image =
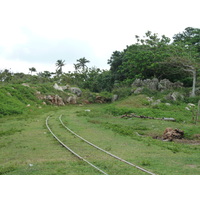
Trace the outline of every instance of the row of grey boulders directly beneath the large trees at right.
<instances>
[{"instance_id":1,"label":"row of grey boulders directly beneath the large trees at right","mask_svg":"<svg viewBox=\"0 0 200 200\"><path fill-rule=\"evenodd\" d=\"M183 87L183 83L181 82L175 82L172 83L168 79L158 80L157 78L153 79L136 79L132 83L133 90L132 92L134 94L139 94L142 92L144 88L148 88L149 90L154 91L164 91L164 90L171 90L171 89L178 89Z\"/></svg>"}]
</instances>

